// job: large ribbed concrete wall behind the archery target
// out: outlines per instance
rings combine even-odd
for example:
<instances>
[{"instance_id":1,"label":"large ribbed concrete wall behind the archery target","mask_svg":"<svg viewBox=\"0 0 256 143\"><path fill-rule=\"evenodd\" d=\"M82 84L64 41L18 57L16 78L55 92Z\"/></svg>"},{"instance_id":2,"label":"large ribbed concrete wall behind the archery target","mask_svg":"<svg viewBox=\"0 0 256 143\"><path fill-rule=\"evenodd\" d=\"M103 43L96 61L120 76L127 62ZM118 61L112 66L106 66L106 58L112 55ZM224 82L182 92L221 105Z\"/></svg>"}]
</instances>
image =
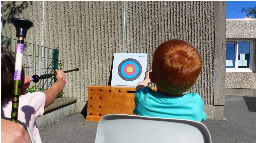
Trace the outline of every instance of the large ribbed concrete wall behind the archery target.
<instances>
[{"instance_id":1,"label":"large ribbed concrete wall behind the archery target","mask_svg":"<svg viewBox=\"0 0 256 143\"><path fill-rule=\"evenodd\" d=\"M155 48L176 38L189 42L202 55L203 69L190 92L198 92L205 105L213 105L215 1L25 2L28 6L22 13L11 15L34 23L25 40L59 48L64 70L80 68L66 74L64 97L86 102L89 85L110 84L114 53L147 53L150 69ZM4 1L4 36L15 38L7 15L25 2ZM225 10L220 14L225 15ZM223 31L218 34L225 36Z\"/></svg>"}]
</instances>

